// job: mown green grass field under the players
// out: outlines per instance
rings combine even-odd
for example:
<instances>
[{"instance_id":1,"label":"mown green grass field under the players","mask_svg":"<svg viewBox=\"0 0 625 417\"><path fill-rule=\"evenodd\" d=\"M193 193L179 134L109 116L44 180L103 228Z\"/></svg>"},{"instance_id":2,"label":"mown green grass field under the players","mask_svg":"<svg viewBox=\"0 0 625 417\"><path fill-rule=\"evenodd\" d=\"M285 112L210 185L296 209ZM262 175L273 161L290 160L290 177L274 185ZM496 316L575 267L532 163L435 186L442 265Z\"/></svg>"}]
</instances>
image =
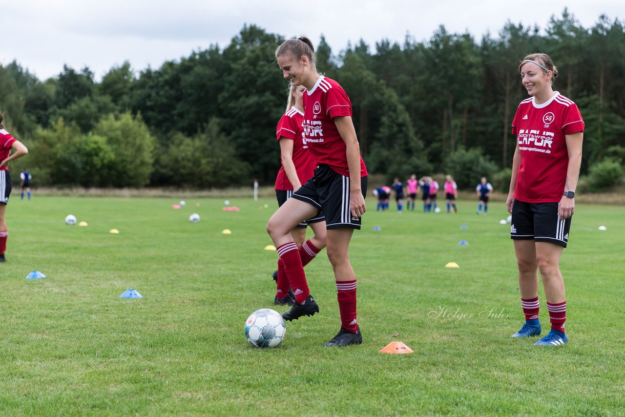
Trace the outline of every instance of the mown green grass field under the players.
<instances>
[{"instance_id":1,"label":"mown green grass field under the players","mask_svg":"<svg viewBox=\"0 0 625 417\"><path fill-rule=\"evenodd\" d=\"M306 267L321 312L287 323L278 348L257 349L243 325L273 308L264 227L274 199L231 199L240 212L222 211L222 199L174 203L11 199L1 415L625 413L622 206L577 205L561 261L566 346L508 337L522 314L503 203L487 216L476 201L460 201L457 215L398 214L369 199L350 253L364 343L321 347L340 324L323 251ZM66 226L70 213L89 226ZM47 278L25 279L34 270ZM144 298L119 298L129 288ZM415 353L379 353L393 340Z\"/></svg>"}]
</instances>

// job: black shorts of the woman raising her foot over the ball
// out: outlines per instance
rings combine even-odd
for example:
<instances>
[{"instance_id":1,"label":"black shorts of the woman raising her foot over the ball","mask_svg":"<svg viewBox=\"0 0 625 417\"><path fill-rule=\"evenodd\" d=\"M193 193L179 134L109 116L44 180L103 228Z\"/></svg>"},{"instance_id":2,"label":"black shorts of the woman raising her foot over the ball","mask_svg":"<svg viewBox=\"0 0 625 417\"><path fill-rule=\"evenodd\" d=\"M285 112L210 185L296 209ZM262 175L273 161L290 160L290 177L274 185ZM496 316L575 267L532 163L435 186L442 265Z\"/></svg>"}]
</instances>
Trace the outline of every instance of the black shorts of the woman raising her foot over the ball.
<instances>
[{"instance_id":1,"label":"black shorts of the woman raising her foot over the ball","mask_svg":"<svg viewBox=\"0 0 625 417\"><path fill-rule=\"evenodd\" d=\"M367 195L367 177L360 179L362 196ZM361 218L354 218L349 208L349 177L336 173L325 164L302 185L292 198L311 204L326 215L327 229L360 229Z\"/></svg>"}]
</instances>

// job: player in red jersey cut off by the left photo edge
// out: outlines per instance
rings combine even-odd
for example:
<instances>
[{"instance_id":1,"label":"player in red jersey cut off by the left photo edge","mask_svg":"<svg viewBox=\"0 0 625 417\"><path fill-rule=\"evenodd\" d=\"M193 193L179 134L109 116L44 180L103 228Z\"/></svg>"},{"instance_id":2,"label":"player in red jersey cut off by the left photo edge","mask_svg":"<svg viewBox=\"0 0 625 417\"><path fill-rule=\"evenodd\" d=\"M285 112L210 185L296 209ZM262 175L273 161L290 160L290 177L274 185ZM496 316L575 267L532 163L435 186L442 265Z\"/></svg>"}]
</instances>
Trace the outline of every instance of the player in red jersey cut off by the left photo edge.
<instances>
[{"instance_id":1,"label":"player in red jersey cut off by the left photo edge","mask_svg":"<svg viewBox=\"0 0 625 417\"><path fill-rule=\"evenodd\" d=\"M11 149L13 153L11 154ZM6 251L6 239L9 231L6 227L6 205L9 203L11 195L11 175L9 175L9 161L17 159L28 153L28 149L20 141L13 138L4 129L2 124L2 113L0 112L0 263L6 262L4 251Z\"/></svg>"}]
</instances>

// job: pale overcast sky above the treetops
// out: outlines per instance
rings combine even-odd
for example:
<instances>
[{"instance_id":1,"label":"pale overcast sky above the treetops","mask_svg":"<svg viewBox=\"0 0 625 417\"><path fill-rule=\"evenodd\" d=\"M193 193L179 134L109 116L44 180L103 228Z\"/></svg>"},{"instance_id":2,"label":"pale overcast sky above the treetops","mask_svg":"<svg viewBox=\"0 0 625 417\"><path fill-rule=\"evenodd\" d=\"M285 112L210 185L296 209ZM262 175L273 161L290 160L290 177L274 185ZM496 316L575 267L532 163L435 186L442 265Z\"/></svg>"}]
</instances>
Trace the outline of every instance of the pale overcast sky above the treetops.
<instances>
[{"instance_id":1,"label":"pale overcast sky above the treetops","mask_svg":"<svg viewBox=\"0 0 625 417\"><path fill-rule=\"evenodd\" d=\"M307 9L298 12L298 4ZM406 33L426 41L441 24L476 41L487 31L497 36L507 20L544 29L565 7L584 28L601 14L625 19L625 0L0 0L0 64L16 59L39 79L58 76L63 64L88 66L99 80L124 60L141 71L226 46L244 24L305 34L314 44L324 34L336 54L361 38L372 49L381 39L402 43Z\"/></svg>"}]
</instances>

